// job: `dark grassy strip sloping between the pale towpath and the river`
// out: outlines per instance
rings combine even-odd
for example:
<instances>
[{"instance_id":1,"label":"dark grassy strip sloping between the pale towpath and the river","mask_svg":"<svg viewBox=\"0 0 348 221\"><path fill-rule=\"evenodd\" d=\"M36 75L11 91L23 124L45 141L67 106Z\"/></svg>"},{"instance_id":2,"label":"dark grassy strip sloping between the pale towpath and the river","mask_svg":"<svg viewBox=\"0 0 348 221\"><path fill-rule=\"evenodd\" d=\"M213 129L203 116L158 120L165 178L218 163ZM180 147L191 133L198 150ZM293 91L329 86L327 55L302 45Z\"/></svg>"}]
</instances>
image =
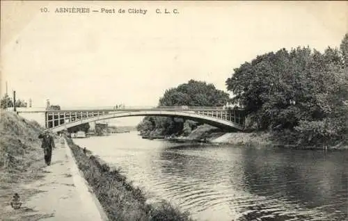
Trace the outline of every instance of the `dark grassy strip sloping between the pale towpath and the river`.
<instances>
[{"instance_id":1,"label":"dark grassy strip sloping between the pale towpath and the river","mask_svg":"<svg viewBox=\"0 0 348 221\"><path fill-rule=\"evenodd\" d=\"M89 183L109 220L192 220L189 213L182 213L168 202L147 204L140 188L135 188L120 170L112 169L99 158L84 154L72 142L72 149L79 170Z\"/></svg>"}]
</instances>

